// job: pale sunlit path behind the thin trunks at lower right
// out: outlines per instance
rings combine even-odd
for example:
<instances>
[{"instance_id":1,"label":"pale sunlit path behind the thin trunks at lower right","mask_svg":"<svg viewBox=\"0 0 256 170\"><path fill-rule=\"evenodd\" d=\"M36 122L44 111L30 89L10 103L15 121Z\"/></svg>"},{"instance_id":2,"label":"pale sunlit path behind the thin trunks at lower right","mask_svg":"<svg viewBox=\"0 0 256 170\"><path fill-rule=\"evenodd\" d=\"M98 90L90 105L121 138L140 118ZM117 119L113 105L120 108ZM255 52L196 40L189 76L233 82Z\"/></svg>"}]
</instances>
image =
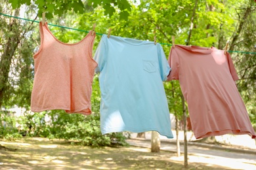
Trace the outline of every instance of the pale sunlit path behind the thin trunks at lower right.
<instances>
[{"instance_id":1,"label":"pale sunlit path behind the thin trunks at lower right","mask_svg":"<svg viewBox=\"0 0 256 170\"><path fill-rule=\"evenodd\" d=\"M128 139L127 142L131 146L140 146L145 148L151 147L151 142L143 139ZM181 152L184 148L181 144ZM161 142L161 151L169 151L176 153L176 144ZM173 154L171 154L173 155ZM171 156L171 160L184 161L184 156L177 157ZM191 163L207 163L211 167L221 166L221 169L245 169L256 170L256 154L255 152L245 153L243 150L240 152L232 152L228 148L218 148L209 144L209 146L188 146L188 164Z\"/></svg>"}]
</instances>

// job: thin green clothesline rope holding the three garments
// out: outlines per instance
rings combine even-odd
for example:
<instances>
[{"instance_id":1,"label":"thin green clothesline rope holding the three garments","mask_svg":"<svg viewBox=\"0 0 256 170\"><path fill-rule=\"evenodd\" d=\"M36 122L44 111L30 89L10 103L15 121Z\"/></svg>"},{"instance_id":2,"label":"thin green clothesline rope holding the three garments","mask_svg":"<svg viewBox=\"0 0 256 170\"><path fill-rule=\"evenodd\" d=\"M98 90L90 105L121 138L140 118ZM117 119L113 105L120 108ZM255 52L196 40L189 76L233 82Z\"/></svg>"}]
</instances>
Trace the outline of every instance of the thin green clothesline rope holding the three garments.
<instances>
[{"instance_id":1,"label":"thin green clothesline rope holding the three garments","mask_svg":"<svg viewBox=\"0 0 256 170\"><path fill-rule=\"evenodd\" d=\"M11 16L11 15L7 15L7 14L3 14L1 12L0 12L0 15L8 16L8 17L11 17L11 18L16 18L16 19L19 19L19 20L26 20L26 21L29 21L29 22L37 22L37 23L40 22L40 21L37 21L37 20L29 20L29 19L26 19L26 18L20 18L18 16ZM72 29L72 30L75 30L75 31L81 31L81 32L89 33L89 31L85 31L83 29L76 29L76 28L72 28L72 27L65 27L65 26L55 25L55 24L48 24L48 25L51 25L51 26L54 26L54 27L62 27L62 28L65 28L65 29ZM102 33L96 33L96 35L103 35L103 34ZM167 43L161 43L160 42L160 44L167 45L167 46L172 46L172 44L167 44ZM237 53L242 53L242 54L256 54L256 52L243 52L243 51L230 51L230 50L228 50L228 52L237 52Z\"/></svg>"}]
</instances>

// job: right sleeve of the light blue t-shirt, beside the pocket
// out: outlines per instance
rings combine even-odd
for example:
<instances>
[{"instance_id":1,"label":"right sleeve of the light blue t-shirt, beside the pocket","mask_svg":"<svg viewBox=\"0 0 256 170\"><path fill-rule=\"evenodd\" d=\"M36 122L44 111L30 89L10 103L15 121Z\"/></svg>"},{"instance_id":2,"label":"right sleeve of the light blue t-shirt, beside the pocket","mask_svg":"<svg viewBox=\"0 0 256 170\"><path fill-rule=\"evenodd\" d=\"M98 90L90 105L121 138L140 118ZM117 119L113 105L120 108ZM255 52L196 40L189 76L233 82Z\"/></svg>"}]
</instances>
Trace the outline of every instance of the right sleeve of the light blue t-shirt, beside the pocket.
<instances>
[{"instance_id":1,"label":"right sleeve of the light blue t-shirt, beside the pocket","mask_svg":"<svg viewBox=\"0 0 256 170\"><path fill-rule=\"evenodd\" d=\"M158 44L158 62L160 67L161 80L166 81L167 76L169 75L171 68L167 62L165 57L165 53L163 52L163 48L160 44Z\"/></svg>"}]
</instances>

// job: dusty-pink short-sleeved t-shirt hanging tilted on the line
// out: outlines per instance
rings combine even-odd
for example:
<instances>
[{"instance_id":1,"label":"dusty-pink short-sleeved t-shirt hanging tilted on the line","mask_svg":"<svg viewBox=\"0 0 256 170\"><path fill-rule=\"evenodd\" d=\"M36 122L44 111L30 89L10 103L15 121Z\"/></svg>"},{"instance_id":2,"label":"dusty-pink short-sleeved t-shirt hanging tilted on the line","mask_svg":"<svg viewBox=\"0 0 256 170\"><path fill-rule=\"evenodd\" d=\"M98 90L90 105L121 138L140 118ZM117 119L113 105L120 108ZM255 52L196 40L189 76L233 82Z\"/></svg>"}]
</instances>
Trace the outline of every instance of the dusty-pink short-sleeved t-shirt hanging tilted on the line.
<instances>
[{"instance_id":1,"label":"dusty-pink short-sleeved t-shirt hanging tilted on the line","mask_svg":"<svg viewBox=\"0 0 256 170\"><path fill-rule=\"evenodd\" d=\"M255 138L234 80L238 75L224 50L175 45L168 59L168 80L179 80L196 139L233 133Z\"/></svg>"}]
</instances>

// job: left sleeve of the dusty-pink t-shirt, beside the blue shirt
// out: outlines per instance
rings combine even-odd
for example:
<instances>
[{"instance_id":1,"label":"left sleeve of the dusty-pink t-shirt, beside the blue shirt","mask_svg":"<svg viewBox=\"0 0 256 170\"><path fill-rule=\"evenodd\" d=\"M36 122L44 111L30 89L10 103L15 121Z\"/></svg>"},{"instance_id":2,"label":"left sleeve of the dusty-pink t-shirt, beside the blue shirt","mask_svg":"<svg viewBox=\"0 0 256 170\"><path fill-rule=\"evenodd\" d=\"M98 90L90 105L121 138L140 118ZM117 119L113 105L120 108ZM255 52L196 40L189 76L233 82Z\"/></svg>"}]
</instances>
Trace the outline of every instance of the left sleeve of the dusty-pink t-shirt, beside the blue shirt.
<instances>
[{"instance_id":1,"label":"left sleeve of the dusty-pink t-shirt, beside the blue shirt","mask_svg":"<svg viewBox=\"0 0 256 170\"><path fill-rule=\"evenodd\" d=\"M168 63L171 67L171 73L167 77L167 81L179 80L179 56L173 47L171 48L171 52L169 54Z\"/></svg>"}]
</instances>

